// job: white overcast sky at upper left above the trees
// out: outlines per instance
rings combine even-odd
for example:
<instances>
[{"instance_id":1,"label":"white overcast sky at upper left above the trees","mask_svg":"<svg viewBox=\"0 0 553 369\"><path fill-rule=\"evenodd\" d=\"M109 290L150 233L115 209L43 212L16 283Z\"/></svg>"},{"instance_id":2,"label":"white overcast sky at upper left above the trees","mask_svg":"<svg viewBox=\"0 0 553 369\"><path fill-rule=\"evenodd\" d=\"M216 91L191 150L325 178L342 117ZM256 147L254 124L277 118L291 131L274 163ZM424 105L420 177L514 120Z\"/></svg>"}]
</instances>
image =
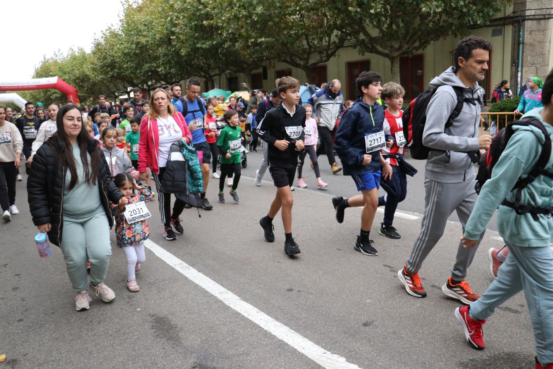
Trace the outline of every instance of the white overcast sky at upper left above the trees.
<instances>
[{"instance_id":1,"label":"white overcast sky at upper left above the trees","mask_svg":"<svg viewBox=\"0 0 553 369\"><path fill-rule=\"evenodd\" d=\"M2 1L0 80L33 76L34 67L60 49L80 46L90 51L92 40L110 24L118 24L119 0ZM9 49L7 46L10 46Z\"/></svg>"}]
</instances>

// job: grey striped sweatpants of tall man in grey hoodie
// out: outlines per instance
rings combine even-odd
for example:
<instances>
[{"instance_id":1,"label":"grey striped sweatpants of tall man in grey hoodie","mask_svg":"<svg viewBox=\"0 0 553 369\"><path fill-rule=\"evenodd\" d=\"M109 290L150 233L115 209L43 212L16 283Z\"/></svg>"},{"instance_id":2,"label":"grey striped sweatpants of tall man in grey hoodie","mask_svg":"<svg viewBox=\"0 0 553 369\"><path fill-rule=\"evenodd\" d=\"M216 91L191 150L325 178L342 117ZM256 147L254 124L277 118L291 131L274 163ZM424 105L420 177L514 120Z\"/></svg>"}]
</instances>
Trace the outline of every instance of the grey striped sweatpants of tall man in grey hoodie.
<instances>
[{"instance_id":1,"label":"grey striped sweatpants of tall man in grey hoodie","mask_svg":"<svg viewBox=\"0 0 553 369\"><path fill-rule=\"evenodd\" d=\"M468 217L471 215L474 204L478 199L474 184L474 178L460 183L442 183L428 178L424 180L424 216L422 217L419 237L415 241L411 256L405 262L408 273L416 274L419 272L422 262L444 234L447 218L454 210L457 211L457 216L463 227L463 232L460 232L459 235L465 233ZM480 235L477 245L468 250L459 241L455 265L451 268L451 279L465 279L467 269L472 263L484 233L485 231ZM455 242L455 238L453 242Z\"/></svg>"}]
</instances>

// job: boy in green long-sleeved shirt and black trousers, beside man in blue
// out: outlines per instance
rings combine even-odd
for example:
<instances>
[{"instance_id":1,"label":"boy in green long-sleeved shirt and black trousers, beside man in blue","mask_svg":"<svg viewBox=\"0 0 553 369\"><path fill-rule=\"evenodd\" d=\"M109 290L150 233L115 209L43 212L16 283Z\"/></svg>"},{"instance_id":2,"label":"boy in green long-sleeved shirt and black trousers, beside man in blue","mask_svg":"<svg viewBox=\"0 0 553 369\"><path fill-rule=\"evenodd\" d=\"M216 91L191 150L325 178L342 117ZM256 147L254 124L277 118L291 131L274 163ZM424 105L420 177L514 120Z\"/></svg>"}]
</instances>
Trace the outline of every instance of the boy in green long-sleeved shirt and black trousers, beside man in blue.
<instances>
[{"instance_id":1,"label":"boy in green long-sleeved shirt and black trousers, beside man in blue","mask_svg":"<svg viewBox=\"0 0 553 369\"><path fill-rule=\"evenodd\" d=\"M232 181L232 189L230 194L232 199L239 202L236 189L238 188L238 181L241 175L241 158L240 148L242 147L241 129L238 127L238 112L234 110L227 110L223 115L223 119L228 124L221 130L219 138L217 139L217 147L221 153L221 177L219 178L219 202L225 204L225 178L228 175L232 177L234 174L234 180Z\"/></svg>"}]
</instances>

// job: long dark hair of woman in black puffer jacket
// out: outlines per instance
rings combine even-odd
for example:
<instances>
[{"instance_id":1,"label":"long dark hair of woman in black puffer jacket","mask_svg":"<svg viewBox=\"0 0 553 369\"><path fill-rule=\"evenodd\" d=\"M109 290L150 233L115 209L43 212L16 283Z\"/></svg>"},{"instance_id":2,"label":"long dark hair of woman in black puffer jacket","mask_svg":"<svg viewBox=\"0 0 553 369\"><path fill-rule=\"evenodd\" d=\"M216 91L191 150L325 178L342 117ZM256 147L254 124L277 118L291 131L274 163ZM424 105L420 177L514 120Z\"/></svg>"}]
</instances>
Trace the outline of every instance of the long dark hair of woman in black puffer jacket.
<instances>
[{"instance_id":1,"label":"long dark hair of woman in black puffer jacket","mask_svg":"<svg viewBox=\"0 0 553 369\"><path fill-rule=\"evenodd\" d=\"M58 131L56 131L48 140L48 145L54 153L54 159L56 162L67 165L67 169L69 169L69 172L71 173L71 181L69 182L69 187L67 188L68 190L75 187L78 178L75 157L73 156L73 150L70 150L71 143L69 142L64 130L64 116L67 112L74 109L79 110L75 105L64 105L60 108L58 115L56 116L56 126L58 127ZM88 164L87 154L89 139L91 138L88 136L86 129L81 129L79 136L77 136L77 144L81 150L82 167L85 172L85 178L81 178L81 180L84 180L88 185L93 186L98 180L98 174L100 174L101 158L98 146L96 146L94 150L92 150L92 153L90 153L90 165ZM55 147L55 141L65 145L65 149L59 150Z\"/></svg>"}]
</instances>

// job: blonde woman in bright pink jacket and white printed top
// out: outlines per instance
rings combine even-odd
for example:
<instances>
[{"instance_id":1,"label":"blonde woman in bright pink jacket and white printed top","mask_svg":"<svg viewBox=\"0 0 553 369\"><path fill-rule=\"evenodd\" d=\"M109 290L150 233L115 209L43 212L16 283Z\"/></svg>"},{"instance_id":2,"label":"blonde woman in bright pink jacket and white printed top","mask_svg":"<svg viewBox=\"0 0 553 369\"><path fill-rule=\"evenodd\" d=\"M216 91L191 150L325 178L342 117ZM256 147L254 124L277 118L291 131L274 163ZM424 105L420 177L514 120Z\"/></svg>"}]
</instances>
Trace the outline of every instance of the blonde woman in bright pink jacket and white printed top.
<instances>
[{"instance_id":1,"label":"blonde woman in bright pink jacket and white printed top","mask_svg":"<svg viewBox=\"0 0 553 369\"><path fill-rule=\"evenodd\" d=\"M182 114L175 110L169 93L155 89L150 97L150 111L140 123L140 139L138 141L138 171L140 180L148 178L149 167L152 170L155 186L159 194L159 212L164 225L163 236L166 240L176 240L175 232L184 232L180 225L180 214L185 203L175 199L171 213L171 194L161 192L160 182L163 180L165 166L169 158L171 144L184 138L186 143L192 142L192 135ZM173 225L175 232L173 232Z\"/></svg>"}]
</instances>

